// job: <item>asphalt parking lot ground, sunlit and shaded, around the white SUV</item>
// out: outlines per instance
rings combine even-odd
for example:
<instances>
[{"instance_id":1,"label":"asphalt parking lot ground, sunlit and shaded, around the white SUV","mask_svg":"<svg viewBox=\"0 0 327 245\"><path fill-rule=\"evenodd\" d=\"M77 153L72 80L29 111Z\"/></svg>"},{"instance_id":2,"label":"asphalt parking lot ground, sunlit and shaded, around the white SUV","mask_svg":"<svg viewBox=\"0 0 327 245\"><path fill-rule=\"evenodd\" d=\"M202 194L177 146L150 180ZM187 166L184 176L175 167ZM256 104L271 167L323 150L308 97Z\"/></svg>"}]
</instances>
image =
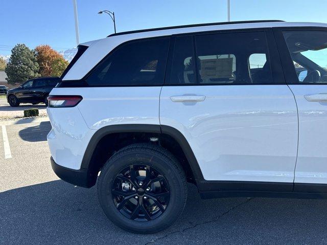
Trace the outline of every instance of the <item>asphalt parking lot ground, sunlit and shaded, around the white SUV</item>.
<instances>
[{"instance_id":1,"label":"asphalt parking lot ground, sunlit and shaded, around the white SUV","mask_svg":"<svg viewBox=\"0 0 327 245\"><path fill-rule=\"evenodd\" d=\"M192 184L172 227L151 235L125 232L103 214L96 187L75 187L55 176L50 129L46 118L0 122L0 244L327 243L327 200L201 200Z\"/></svg>"}]
</instances>

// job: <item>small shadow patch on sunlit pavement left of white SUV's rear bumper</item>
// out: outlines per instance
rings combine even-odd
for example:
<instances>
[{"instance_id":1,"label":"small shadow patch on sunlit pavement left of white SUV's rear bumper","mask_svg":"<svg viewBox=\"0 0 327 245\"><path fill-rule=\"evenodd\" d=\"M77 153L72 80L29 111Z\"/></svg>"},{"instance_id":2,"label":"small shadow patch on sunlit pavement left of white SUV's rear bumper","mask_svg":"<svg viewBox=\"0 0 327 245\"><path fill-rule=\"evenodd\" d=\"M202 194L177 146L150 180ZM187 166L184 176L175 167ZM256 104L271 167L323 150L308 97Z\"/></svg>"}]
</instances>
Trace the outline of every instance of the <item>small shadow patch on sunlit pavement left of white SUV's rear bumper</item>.
<instances>
[{"instance_id":1,"label":"small shadow patch on sunlit pavement left of white SUV's rear bumper","mask_svg":"<svg viewBox=\"0 0 327 245\"><path fill-rule=\"evenodd\" d=\"M46 141L46 135L48 135L50 130L50 121L41 121L39 125L22 129L18 134L19 137L25 141Z\"/></svg>"}]
</instances>

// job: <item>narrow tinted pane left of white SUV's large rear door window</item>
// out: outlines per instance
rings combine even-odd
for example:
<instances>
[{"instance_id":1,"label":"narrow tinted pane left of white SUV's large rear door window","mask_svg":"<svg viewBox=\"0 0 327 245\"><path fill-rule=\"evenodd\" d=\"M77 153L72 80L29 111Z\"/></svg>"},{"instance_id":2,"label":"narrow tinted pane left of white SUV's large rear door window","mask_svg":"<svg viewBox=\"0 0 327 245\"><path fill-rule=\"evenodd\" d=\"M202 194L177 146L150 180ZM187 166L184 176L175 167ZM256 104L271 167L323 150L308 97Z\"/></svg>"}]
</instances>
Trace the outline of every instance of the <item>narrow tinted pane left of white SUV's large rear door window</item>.
<instances>
[{"instance_id":1,"label":"narrow tinted pane left of white SUV's large rear door window","mask_svg":"<svg viewBox=\"0 0 327 245\"><path fill-rule=\"evenodd\" d=\"M196 83L193 37L176 37L170 80L167 84Z\"/></svg>"}]
</instances>

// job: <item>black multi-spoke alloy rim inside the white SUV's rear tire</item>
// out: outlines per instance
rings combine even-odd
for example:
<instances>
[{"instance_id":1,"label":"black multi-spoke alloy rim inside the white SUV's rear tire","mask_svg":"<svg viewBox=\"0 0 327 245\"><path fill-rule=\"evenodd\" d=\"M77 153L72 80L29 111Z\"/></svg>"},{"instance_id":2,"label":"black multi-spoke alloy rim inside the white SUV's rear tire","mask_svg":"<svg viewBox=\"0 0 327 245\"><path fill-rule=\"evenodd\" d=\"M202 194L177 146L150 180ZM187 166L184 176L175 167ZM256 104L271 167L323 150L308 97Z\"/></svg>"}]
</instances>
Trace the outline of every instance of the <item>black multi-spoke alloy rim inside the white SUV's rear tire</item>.
<instances>
[{"instance_id":1,"label":"black multi-spoke alloy rim inside the white SUV's rear tire","mask_svg":"<svg viewBox=\"0 0 327 245\"><path fill-rule=\"evenodd\" d=\"M149 165L131 165L115 176L113 202L133 220L147 221L165 212L170 198L169 185L162 174Z\"/></svg>"}]
</instances>

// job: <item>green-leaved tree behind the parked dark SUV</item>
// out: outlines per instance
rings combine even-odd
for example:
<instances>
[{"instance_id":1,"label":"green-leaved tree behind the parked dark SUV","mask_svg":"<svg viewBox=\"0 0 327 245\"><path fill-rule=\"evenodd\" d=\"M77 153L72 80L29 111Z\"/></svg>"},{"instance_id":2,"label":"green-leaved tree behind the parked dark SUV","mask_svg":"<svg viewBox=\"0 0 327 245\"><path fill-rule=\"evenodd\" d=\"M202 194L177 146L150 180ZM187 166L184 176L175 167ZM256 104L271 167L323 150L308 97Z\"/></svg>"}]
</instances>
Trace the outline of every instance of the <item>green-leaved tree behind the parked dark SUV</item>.
<instances>
[{"instance_id":1,"label":"green-leaved tree behind the parked dark SUV","mask_svg":"<svg viewBox=\"0 0 327 245\"><path fill-rule=\"evenodd\" d=\"M5 72L9 84L23 83L31 78L39 77L39 65L35 53L25 44L17 44L11 50L11 56Z\"/></svg>"}]
</instances>

